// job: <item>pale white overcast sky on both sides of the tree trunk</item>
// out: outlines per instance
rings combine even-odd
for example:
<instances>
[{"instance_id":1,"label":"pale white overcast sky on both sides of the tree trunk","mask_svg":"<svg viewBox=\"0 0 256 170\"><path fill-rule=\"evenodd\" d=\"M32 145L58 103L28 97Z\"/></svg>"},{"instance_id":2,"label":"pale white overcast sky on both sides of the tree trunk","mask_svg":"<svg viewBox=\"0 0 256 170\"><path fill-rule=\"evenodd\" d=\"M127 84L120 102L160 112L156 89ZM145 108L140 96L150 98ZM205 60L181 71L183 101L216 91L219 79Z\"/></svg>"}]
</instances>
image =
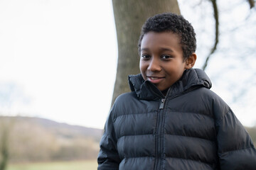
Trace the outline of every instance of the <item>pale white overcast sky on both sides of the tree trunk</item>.
<instances>
[{"instance_id":1,"label":"pale white overcast sky on both sides of the tree trunk","mask_svg":"<svg viewBox=\"0 0 256 170\"><path fill-rule=\"evenodd\" d=\"M191 16L191 6L184 5L183 1L180 1L181 13L192 22L197 35L201 35L198 46L206 45L205 50L198 51L198 56L205 56L211 45L205 41L213 41L213 36L209 36L213 34L210 29L214 26L213 20L201 21L208 25L203 27L196 20L201 19L203 12L212 15L210 6L210 10L195 8L195 16ZM238 8L238 11L244 10L248 10L246 5ZM245 18L240 12L232 15L238 18L237 23L241 23L239 17L241 21ZM250 19L255 21L255 18ZM256 48L253 36L250 44ZM247 41L245 36L242 37ZM228 39L225 40L222 43L229 47ZM234 89L235 84L249 79L245 74L251 75L251 71L242 69L245 74L241 74L240 67L232 69L232 64L225 64L230 63L230 59L223 60L222 54L223 51L218 51L206 70L213 81L213 91L235 113L237 111L236 115L244 125L254 125L255 89L243 96L243 102L234 101L233 97L238 91ZM203 57L198 58L196 67L201 67ZM240 64L239 61L232 62ZM253 62L247 67L250 63ZM110 110L116 67L117 38L110 0L0 1L1 115L38 116L103 128ZM230 74L224 76L223 72ZM230 86L220 83L222 81L235 83Z\"/></svg>"}]
</instances>

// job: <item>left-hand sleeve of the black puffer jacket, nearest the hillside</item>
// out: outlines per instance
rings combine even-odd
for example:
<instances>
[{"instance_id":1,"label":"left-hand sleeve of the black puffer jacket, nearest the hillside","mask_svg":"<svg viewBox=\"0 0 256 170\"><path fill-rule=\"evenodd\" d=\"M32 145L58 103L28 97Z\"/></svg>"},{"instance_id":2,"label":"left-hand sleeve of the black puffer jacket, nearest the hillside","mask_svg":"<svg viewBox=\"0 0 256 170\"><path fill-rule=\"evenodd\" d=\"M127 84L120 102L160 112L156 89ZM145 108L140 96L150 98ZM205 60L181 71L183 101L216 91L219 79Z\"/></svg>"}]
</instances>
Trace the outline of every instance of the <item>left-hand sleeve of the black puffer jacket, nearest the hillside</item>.
<instances>
[{"instance_id":1,"label":"left-hand sleeve of the black puffer jacket, nearest the hillside","mask_svg":"<svg viewBox=\"0 0 256 170\"><path fill-rule=\"evenodd\" d=\"M110 112L105 124L105 132L100 141L100 153L97 157L98 170L119 169L121 162L117 152L117 139L114 135L112 112Z\"/></svg>"}]
</instances>

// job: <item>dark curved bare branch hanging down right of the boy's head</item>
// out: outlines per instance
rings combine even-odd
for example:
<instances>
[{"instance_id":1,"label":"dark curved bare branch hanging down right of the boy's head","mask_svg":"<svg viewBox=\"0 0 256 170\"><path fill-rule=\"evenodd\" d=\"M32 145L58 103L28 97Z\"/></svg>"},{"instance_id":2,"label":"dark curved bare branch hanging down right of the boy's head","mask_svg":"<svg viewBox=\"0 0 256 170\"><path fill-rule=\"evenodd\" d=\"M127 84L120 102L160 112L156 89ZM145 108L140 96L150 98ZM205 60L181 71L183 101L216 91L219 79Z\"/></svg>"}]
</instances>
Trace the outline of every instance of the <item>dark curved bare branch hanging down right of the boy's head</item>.
<instances>
[{"instance_id":1,"label":"dark curved bare branch hanging down right of the boy's head","mask_svg":"<svg viewBox=\"0 0 256 170\"><path fill-rule=\"evenodd\" d=\"M210 59L211 55L213 55L213 53L217 49L218 40L219 40L218 6L217 6L217 3L216 3L216 0L210 0L210 1L213 4L213 15L214 15L214 18L215 18L215 43L213 45L213 48L210 50L210 54L208 55L208 57L206 57L206 62L203 64L203 70L206 69L207 64L208 64L208 60Z\"/></svg>"}]
</instances>

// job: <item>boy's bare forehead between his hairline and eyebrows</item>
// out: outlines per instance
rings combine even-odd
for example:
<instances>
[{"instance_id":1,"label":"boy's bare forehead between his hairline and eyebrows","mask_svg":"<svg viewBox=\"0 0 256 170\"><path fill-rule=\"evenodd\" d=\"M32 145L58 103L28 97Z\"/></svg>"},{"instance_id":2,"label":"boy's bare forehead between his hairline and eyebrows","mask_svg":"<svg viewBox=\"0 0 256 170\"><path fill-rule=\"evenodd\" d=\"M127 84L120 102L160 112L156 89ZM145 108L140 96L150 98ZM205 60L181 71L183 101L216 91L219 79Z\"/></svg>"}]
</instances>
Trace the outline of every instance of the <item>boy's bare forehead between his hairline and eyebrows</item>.
<instances>
[{"instance_id":1,"label":"boy's bare forehead between his hairline and eyebrows","mask_svg":"<svg viewBox=\"0 0 256 170\"><path fill-rule=\"evenodd\" d=\"M180 36L171 31L161 33L150 31L146 33L142 38L141 50L156 50L159 48L182 51Z\"/></svg>"}]
</instances>

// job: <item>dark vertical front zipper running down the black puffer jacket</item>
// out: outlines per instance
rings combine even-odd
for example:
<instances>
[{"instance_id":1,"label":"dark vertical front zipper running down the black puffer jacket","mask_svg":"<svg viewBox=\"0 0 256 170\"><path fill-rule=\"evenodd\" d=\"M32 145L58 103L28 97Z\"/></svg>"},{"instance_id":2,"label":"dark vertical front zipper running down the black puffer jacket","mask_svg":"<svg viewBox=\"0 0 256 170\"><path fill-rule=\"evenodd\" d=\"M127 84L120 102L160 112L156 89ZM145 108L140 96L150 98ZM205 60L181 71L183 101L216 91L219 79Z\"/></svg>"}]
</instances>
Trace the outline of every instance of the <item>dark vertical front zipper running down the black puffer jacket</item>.
<instances>
[{"instance_id":1,"label":"dark vertical front zipper running down the black puffer jacket","mask_svg":"<svg viewBox=\"0 0 256 170\"><path fill-rule=\"evenodd\" d=\"M161 148L162 146L162 127L164 123L164 102L166 98L161 98L160 106L159 106L159 113L157 115L157 122L156 122L156 163L154 169L159 170L161 168Z\"/></svg>"}]
</instances>

